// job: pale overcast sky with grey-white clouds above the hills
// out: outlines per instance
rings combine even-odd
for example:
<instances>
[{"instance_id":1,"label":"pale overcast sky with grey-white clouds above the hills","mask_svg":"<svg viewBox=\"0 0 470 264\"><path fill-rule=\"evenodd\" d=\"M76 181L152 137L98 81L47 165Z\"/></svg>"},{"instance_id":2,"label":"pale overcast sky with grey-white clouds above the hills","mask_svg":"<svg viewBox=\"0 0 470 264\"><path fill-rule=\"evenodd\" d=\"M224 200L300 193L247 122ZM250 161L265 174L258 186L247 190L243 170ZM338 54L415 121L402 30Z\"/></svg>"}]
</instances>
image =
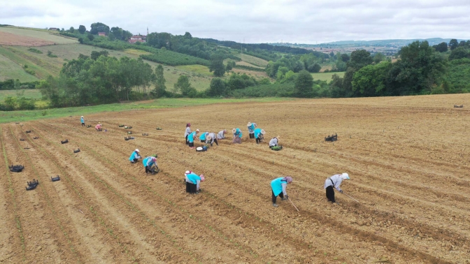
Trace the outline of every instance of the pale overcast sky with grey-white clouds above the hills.
<instances>
[{"instance_id":1,"label":"pale overcast sky with grey-white clouds above the hills","mask_svg":"<svg viewBox=\"0 0 470 264\"><path fill-rule=\"evenodd\" d=\"M0 0L0 24L134 34L189 31L245 43L324 43L390 38L470 38L470 0Z\"/></svg>"}]
</instances>

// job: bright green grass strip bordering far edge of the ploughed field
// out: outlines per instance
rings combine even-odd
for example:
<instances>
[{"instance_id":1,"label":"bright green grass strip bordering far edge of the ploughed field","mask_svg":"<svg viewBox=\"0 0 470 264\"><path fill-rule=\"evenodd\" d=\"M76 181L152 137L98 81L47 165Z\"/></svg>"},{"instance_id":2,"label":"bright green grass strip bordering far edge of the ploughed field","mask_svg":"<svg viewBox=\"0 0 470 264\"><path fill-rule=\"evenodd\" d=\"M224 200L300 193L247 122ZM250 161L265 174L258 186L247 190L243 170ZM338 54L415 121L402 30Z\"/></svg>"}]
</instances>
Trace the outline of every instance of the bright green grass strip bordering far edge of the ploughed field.
<instances>
[{"instance_id":1,"label":"bright green grass strip bordering far edge of the ploughed field","mask_svg":"<svg viewBox=\"0 0 470 264\"><path fill-rule=\"evenodd\" d=\"M214 98L162 98L154 101L141 101L134 103L113 103L109 105L83 106L78 108L55 108L48 110L23 110L0 112L0 123L25 122L35 119L57 118L72 116L78 119L80 115L97 112L125 111L157 108L180 108L194 105L208 105L213 103L243 103L248 101L267 102L285 101L292 98L250 98L250 99L214 99ZM43 115L46 113L46 115Z\"/></svg>"}]
</instances>

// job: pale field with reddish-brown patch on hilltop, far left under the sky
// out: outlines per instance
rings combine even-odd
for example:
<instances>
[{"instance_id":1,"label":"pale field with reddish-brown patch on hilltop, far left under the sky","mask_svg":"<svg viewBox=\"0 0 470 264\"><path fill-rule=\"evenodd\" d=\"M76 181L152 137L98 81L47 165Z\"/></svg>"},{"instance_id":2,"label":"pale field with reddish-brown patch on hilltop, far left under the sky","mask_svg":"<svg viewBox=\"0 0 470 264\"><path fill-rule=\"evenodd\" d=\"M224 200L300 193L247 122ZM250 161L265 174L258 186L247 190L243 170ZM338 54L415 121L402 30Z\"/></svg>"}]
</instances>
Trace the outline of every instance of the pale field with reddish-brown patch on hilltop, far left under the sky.
<instances>
[{"instance_id":1,"label":"pale field with reddish-brown patch on hilltop, far left under the sky","mask_svg":"<svg viewBox=\"0 0 470 264\"><path fill-rule=\"evenodd\" d=\"M47 31L19 29L15 27L0 27L0 45L41 46L54 43L70 44L78 43L78 41L59 36L57 31L51 31L51 33L49 33Z\"/></svg>"}]
</instances>

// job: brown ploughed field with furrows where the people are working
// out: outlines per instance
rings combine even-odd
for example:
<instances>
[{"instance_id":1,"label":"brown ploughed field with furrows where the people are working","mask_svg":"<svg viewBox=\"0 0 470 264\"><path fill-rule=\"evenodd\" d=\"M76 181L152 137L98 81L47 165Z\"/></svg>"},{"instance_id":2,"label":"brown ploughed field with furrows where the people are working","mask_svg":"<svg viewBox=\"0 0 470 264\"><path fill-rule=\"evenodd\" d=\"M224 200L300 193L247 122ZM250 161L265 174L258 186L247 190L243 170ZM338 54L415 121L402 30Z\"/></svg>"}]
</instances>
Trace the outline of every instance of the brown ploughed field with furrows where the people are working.
<instances>
[{"instance_id":1,"label":"brown ploughed field with furrows where the people are working","mask_svg":"<svg viewBox=\"0 0 470 264\"><path fill-rule=\"evenodd\" d=\"M106 132L79 117L2 124L0 263L470 263L467 105L470 94L85 117ZM248 139L200 153L185 146L186 122L239 127L248 138L248 121L285 148ZM119 124L136 139L125 141ZM325 142L332 133L339 140ZM159 174L127 161L136 147L158 154ZM185 193L185 170L206 175L198 195ZM341 187L359 204L338 192L340 205L327 202L325 179L343 172L351 179ZM300 212L271 205L269 182L283 175L294 178L287 193ZM40 184L25 191L32 179Z\"/></svg>"}]
</instances>

